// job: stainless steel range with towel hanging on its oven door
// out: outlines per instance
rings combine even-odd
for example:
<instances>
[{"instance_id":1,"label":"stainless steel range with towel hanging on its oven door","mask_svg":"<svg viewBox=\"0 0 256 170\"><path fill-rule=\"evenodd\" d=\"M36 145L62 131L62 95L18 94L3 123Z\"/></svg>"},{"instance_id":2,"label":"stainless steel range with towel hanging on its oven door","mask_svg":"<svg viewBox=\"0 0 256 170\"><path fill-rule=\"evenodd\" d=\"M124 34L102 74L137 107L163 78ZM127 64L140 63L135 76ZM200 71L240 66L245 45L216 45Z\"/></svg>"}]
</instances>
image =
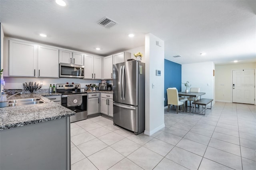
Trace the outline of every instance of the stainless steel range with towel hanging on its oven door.
<instances>
[{"instance_id":1,"label":"stainless steel range with towel hanging on its oven door","mask_svg":"<svg viewBox=\"0 0 256 170\"><path fill-rule=\"evenodd\" d=\"M56 84L56 92L62 93L61 105L76 112L70 123L87 119L87 93L81 93L80 87L80 84Z\"/></svg>"}]
</instances>

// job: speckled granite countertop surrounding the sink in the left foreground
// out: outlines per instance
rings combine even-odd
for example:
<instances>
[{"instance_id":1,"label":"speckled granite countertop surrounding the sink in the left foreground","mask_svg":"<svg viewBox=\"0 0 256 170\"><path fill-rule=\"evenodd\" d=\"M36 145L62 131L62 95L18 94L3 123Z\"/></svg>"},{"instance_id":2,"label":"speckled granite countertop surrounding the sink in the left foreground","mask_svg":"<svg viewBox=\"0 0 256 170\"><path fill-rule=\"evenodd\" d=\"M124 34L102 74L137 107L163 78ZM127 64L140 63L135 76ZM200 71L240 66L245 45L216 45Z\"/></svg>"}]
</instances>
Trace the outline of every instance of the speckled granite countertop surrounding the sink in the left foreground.
<instances>
[{"instance_id":1,"label":"speckled granite countertop surrounding the sink in the left foreground","mask_svg":"<svg viewBox=\"0 0 256 170\"><path fill-rule=\"evenodd\" d=\"M11 99L26 99L26 98L41 98L47 103L38 105L24 105L14 107L0 108L0 130L8 128L21 127L24 125L40 123L44 121L51 121L75 115L75 112L59 105L43 95L50 95L49 93L41 94L22 94L15 95ZM52 95L52 94L51 94ZM55 94L54 94L55 95ZM61 94L56 94L61 95Z\"/></svg>"}]
</instances>

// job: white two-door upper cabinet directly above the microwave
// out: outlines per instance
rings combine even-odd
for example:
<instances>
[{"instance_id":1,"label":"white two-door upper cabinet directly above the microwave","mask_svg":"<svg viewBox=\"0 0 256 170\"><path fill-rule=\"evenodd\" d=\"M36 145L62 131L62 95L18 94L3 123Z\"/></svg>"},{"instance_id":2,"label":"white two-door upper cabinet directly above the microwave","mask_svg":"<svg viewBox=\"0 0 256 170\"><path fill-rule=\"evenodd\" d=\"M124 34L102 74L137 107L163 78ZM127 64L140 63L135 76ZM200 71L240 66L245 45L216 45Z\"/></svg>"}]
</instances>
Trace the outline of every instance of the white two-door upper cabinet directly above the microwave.
<instances>
[{"instance_id":1,"label":"white two-door upper cabinet directly above the microwave","mask_svg":"<svg viewBox=\"0 0 256 170\"><path fill-rule=\"evenodd\" d=\"M60 49L60 63L84 65L84 54Z\"/></svg>"}]
</instances>

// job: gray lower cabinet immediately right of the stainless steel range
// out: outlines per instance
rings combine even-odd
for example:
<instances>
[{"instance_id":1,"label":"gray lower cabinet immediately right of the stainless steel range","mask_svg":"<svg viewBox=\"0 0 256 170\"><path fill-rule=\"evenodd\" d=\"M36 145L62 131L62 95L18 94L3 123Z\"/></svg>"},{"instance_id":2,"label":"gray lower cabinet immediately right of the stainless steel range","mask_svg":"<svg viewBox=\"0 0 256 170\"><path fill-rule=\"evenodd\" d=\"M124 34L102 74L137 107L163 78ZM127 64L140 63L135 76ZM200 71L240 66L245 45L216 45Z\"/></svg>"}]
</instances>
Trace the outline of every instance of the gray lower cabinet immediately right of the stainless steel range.
<instances>
[{"instance_id":1,"label":"gray lower cabinet immediately right of the stainless steel range","mask_svg":"<svg viewBox=\"0 0 256 170\"><path fill-rule=\"evenodd\" d=\"M92 115L95 113L100 113L99 105L100 105L100 95L99 93L88 93L88 108L87 114Z\"/></svg>"}]
</instances>

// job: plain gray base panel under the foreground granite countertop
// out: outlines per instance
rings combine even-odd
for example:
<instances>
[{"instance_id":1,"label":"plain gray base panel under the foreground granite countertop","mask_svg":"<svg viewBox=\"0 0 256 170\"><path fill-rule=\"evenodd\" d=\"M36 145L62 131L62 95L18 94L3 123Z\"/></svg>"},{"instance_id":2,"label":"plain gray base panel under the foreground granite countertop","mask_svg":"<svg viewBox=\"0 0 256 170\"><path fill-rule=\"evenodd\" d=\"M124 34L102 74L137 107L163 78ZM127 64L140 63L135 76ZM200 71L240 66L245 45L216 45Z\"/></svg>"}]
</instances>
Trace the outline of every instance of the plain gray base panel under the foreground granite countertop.
<instances>
[{"instance_id":1,"label":"plain gray base panel under the foreground granite countertop","mask_svg":"<svg viewBox=\"0 0 256 170\"><path fill-rule=\"evenodd\" d=\"M1 170L70 170L70 117L0 130Z\"/></svg>"}]
</instances>

